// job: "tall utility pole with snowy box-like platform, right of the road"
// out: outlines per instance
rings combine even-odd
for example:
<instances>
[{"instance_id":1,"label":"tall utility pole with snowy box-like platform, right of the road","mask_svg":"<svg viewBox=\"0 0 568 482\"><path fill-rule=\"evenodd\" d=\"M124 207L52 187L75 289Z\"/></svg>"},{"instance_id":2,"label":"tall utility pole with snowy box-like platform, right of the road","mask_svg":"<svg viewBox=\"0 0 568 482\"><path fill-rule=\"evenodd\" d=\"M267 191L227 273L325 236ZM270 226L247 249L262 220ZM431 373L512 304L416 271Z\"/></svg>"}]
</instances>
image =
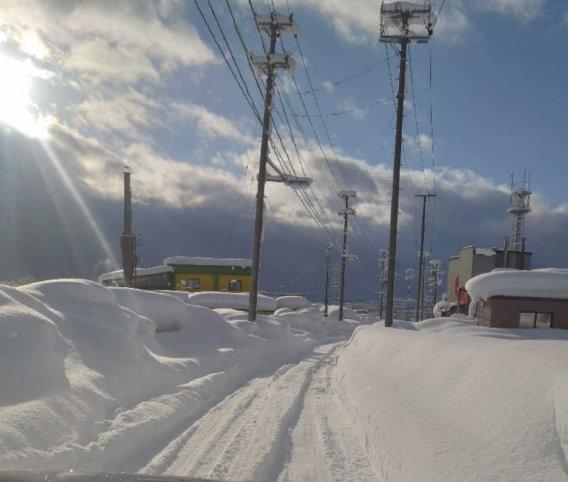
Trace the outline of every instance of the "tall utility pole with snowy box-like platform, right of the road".
<instances>
[{"instance_id":1,"label":"tall utility pole with snowy box-like platform, right of the road","mask_svg":"<svg viewBox=\"0 0 568 482\"><path fill-rule=\"evenodd\" d=\"M398 232L398 191L400 188L400 152L403 144L403 114L406 77L406 48L409 42L427 43L432 33L432 7L395 1L381 5L381 38L383 43L400 43L398 93L396 95L396 134L393 161L393 197L391 200L391 232L388 242L388 278L386 291L385 326L393 325L395 295L396 237ZM413 28L413 30L411 30ZM426 28L426 35L418 35Z\"/></svg>"}]
</instances>

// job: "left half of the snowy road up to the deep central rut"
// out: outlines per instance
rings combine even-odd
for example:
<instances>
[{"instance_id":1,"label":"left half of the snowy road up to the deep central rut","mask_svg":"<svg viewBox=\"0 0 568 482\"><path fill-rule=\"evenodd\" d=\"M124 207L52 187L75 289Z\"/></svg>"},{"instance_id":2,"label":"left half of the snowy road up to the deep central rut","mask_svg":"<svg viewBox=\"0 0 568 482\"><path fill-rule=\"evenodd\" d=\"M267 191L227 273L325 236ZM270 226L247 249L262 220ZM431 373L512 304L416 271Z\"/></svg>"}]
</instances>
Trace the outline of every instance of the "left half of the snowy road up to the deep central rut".
<instances>
[{"instance_id":1,"label":"left half of the snowy road up to the deep central rut","mask_svg":"<svg viewBox=\"0 0 568 482\"><path fill-rule=\"evenodd\" d=\"M290 452L290 426L300 418L312 375L339 346L319 347L319 355L251 380L172 441L142 471L275 480Z\"/></svg>"}]
</instances>

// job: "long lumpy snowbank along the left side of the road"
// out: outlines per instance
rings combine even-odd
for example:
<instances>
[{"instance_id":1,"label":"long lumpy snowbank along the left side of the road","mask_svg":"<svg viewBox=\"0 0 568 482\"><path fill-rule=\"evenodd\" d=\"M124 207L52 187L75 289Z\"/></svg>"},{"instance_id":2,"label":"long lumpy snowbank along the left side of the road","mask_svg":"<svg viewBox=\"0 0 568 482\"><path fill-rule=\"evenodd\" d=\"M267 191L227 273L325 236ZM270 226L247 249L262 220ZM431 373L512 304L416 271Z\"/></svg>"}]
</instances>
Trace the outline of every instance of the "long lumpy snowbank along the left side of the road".
<instances>
[{"instance_id":1,"label":"long lumpy snowbank along the left side of the road","mask_svg":"<svg viewBox=\"0 0 568 482\"><path fill-rule=\"evenodd\" d=\"M249 380L329 340L292 328L301 315L223 315L86 280L0 286L0 468L138 471Z\"/></svg>"}]
</instances>

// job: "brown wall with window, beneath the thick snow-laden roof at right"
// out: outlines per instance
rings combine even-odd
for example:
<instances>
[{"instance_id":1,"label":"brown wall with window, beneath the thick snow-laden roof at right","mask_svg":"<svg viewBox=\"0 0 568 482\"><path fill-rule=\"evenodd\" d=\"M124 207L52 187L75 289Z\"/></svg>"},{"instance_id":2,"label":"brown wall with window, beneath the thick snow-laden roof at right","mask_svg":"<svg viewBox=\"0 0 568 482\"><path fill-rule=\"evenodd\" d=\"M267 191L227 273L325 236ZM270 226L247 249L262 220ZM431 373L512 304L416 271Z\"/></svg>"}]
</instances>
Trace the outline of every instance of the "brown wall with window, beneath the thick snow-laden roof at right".
<instances>
[{"instance_id":1,"label":"brown wall with window, beneath the thick snow-laden roof at right","mask_svg":"<svg viewBox=\"0 0 568 482\"><path fill-rule=\"evenodd\" d=\"M491 296L477 305L479 326L568 329L568 299Z\"/></svg>"}]
</instances>

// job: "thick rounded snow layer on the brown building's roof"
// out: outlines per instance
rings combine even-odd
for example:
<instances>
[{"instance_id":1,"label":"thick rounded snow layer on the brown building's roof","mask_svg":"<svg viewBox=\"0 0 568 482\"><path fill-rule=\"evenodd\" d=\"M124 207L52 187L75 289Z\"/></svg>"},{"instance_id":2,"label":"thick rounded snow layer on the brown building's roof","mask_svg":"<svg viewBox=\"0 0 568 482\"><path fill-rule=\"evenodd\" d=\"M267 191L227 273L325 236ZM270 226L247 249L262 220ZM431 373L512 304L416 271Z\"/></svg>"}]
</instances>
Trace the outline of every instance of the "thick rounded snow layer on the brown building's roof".
<instances>
[{"instance_id":1,"label":"thick rounded snow layer on the brown building's roof","mask_svg":"<svg viewBox=\"0 0 568 482\"><path fill-rule=\"evenodd\" d=\"M472 299L491 296L568 299L568 269L497 268L469 279L466 291Z\"/></svg>"}]
</instances>

